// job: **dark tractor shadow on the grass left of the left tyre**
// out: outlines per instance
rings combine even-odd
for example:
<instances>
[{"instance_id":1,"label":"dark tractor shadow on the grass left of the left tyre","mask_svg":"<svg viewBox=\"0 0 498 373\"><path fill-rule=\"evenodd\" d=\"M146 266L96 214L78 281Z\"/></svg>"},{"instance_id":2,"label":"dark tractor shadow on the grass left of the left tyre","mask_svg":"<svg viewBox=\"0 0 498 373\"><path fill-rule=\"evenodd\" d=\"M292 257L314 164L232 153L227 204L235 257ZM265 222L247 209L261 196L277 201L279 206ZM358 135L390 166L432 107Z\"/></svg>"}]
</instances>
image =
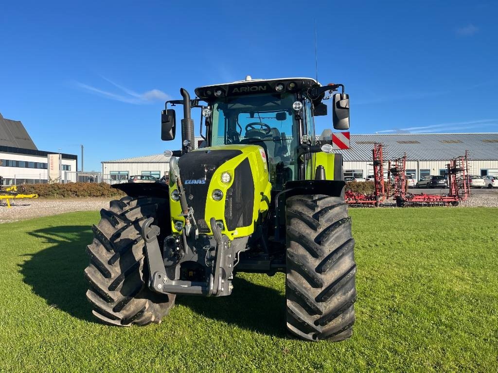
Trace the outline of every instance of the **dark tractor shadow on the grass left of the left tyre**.
<instances>
[{"instance_id":1,"label":"dark tractor shadow on the grass left of the left tyre","mask_svg":"<svg viewBox=\"0 0 498 373\"><path fill-rule=\"evenodd\" d=\"M83 271L88 266L85 245L92 242L90 226L67 225L29 232L50 247L29 257L20 266L24 283L44 298L48 305L82 320L95 322L85 293L88 288Z\"/></svg>"}]
</instances>

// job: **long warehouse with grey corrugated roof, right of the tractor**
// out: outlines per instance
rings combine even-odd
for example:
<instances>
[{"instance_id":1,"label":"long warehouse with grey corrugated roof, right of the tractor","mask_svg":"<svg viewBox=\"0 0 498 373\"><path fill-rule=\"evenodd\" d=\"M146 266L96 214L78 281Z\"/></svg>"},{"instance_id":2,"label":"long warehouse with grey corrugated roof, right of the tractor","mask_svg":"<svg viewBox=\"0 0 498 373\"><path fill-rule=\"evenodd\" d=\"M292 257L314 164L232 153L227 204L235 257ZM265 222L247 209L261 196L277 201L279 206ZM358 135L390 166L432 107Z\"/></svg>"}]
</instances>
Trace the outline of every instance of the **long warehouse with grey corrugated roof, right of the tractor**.
<instances>
[{"instance_id":1,"label":"long warehouse with grey corrugated roof, right of the tractor","mask_svg":"<svg viewBox=\"0 0 498 373\"><path fill-rule=\"evenodd\" d=\"M343 154L344 175L357 179L373 175L372 149L383 144L384 161L403 157L406 174L416 179L427 175L444 175L450 159L468 151L471 175L498 176L498 133L430 133L351 135L349 150Z\"/></svg>"}]
</instances>

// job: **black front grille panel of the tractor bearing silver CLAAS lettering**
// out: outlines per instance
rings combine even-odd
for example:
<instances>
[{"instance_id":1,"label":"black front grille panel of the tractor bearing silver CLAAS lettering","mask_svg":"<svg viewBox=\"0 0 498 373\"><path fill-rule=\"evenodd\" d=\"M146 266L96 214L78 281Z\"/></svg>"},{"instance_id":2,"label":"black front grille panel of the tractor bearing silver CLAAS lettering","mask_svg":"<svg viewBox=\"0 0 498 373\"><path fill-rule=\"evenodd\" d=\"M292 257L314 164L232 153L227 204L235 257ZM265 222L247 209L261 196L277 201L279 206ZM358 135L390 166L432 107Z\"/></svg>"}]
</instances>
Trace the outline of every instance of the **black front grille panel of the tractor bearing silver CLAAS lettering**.
<instances>
[{"instance_id":1,"label":"black front grille panel of the tractor bearing silver CLAAS lettering","mask_svg":"<svg viewBox=\"0 0 498 373\"><path fill-rule=\"evenodd\" d=\"M178 160L187 203L194 209L196 221L204 220L209 183L215 171L228 160L242 154L240 150L204 150L189 152ZM190 184L192 181L195 184ZM200 182L199 182L200 181ZM205 182L202 184L202 182ZM198 224L200 233L208 233L207 222Z\"/></svg>"}]
</instances>

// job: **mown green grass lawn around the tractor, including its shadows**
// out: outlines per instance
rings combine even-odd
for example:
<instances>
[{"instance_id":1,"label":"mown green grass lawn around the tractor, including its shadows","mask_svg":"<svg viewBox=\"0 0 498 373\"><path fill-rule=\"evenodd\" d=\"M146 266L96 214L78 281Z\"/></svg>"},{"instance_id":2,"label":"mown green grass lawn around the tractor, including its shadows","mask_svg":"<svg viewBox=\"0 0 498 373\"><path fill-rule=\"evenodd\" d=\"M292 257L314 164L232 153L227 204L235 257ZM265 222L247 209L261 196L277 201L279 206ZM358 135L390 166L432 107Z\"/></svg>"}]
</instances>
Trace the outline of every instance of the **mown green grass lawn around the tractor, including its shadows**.
<instances>
[{"instance_id":1,"label":"mown green grass lawn around the tractor, including its shadows","mask_svg":"<svg viewBox=\"0 0 498 373\"><path fill-rule=\"evenodd\" d=\"M101 325L83 279L99 213L0 224L0 372L497 372L497 209L350 213L357 321L340 343L286 336L282 274L178 296L160 325Z\"/></svg>"}]
</instances>

